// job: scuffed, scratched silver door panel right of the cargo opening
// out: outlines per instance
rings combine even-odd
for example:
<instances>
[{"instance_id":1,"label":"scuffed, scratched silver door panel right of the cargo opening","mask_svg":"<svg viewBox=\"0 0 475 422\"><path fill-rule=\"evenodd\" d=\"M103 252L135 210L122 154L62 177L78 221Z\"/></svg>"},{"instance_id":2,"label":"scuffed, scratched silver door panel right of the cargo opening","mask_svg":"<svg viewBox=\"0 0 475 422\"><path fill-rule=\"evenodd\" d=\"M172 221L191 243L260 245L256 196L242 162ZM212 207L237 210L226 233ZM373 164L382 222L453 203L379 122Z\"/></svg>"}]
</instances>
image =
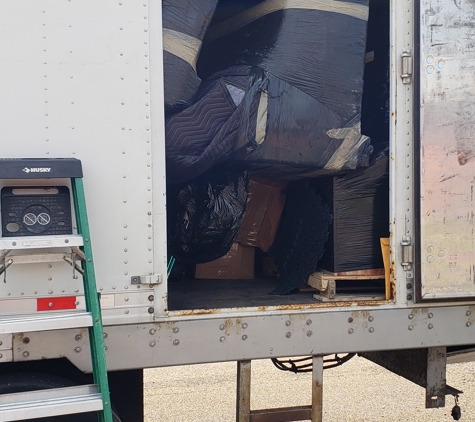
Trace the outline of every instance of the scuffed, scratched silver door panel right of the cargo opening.
<instances>
[{"instance_id":1,"label":"scuffed, scratched silver door panel right of the cargo opening","mask_svg":"<svg viewBox=\"0 0 475 422\"><path fill-rule=\"evenodd\" d=\"M421 2L422 297L475 295L475 1Z\"/></svg>"}]
</instances>

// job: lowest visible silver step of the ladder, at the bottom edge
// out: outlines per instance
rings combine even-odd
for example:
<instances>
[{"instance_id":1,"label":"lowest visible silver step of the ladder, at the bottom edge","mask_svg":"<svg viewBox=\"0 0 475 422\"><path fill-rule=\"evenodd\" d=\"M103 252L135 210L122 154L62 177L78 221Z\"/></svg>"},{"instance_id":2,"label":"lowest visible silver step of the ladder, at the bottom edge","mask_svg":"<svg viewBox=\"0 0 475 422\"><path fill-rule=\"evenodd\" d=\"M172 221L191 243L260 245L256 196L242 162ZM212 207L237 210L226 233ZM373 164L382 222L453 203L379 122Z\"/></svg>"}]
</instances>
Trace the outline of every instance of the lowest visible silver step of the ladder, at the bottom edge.
<instances>
[{"instance_id":1,"label":"lowest visible silver step of the ladder, at the bottom edge","mask_svg":"<svg viewBox=\"0 0 475 422\"><path fill-rule=\"evenodd\" d=\"M102 410L97 385L52 388L0 395L0 422Z\"/></svg>"}]
</instances>

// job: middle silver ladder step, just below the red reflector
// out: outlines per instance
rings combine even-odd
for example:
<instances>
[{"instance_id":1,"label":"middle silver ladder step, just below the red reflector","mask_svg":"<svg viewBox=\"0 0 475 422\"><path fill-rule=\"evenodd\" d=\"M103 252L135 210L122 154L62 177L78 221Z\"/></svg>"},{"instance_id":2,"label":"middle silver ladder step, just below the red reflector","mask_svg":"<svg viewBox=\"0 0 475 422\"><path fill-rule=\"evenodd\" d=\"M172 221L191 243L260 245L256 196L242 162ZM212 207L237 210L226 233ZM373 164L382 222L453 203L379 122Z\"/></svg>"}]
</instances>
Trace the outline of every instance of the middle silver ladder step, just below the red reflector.
<instances>
[{"instance_id":1,"label":"middle silver ladder step, just below the red reflector","mask_svg":"<svg viewBox=\"0 0 475 422\"><path fill-rule=\"evenodd\" d=\"M92 326L90 312L57 312L47 315L27 314L0 318L0 334L64 330Z\"/></svg>"}]
</instances>

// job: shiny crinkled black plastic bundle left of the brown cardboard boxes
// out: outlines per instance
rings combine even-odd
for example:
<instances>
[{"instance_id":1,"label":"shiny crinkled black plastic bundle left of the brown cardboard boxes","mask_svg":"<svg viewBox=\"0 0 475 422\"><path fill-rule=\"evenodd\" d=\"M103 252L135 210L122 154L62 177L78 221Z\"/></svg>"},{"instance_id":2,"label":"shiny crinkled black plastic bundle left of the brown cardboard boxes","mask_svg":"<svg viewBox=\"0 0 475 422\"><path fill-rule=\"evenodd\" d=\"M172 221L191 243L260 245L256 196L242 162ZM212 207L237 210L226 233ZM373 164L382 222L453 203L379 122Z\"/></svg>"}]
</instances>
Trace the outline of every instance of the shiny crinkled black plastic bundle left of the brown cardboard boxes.
<instances>
[{"instance_id":1,"label":"shiny crinkled black plastic bundle left of the brown cardboard boxes","mask_svg":"<svg viewBox=\"0 0 475 422\"><path fill-rule=\"evenodd\" d=\"M241 227L248 171L216 168L168 195L169 255L204 263L225 255Z\"/></svg>"}]
</instances>

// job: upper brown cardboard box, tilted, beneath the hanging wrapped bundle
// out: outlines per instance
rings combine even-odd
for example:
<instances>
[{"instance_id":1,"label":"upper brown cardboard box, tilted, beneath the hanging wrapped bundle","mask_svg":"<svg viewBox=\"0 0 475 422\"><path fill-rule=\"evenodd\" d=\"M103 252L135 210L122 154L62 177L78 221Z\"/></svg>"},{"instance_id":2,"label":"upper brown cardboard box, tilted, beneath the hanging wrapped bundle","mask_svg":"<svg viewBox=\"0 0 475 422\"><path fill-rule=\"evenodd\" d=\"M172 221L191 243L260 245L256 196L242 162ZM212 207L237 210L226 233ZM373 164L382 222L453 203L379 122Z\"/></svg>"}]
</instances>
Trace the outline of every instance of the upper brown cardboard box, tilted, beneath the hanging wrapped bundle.
<instances>
[{"instance_id":1,"label":"upper brown cardboard box, tilted, beneath the hanging wrapped bundle","mask_svg":"<svg viewBox=\"0 0 475 422\"><path fill-rule=\"evenodd\" d=\"M274 242L285 203L286 183L251 179L246 215L236 242L267 252Z\"/></svg>"}]
</instances>

